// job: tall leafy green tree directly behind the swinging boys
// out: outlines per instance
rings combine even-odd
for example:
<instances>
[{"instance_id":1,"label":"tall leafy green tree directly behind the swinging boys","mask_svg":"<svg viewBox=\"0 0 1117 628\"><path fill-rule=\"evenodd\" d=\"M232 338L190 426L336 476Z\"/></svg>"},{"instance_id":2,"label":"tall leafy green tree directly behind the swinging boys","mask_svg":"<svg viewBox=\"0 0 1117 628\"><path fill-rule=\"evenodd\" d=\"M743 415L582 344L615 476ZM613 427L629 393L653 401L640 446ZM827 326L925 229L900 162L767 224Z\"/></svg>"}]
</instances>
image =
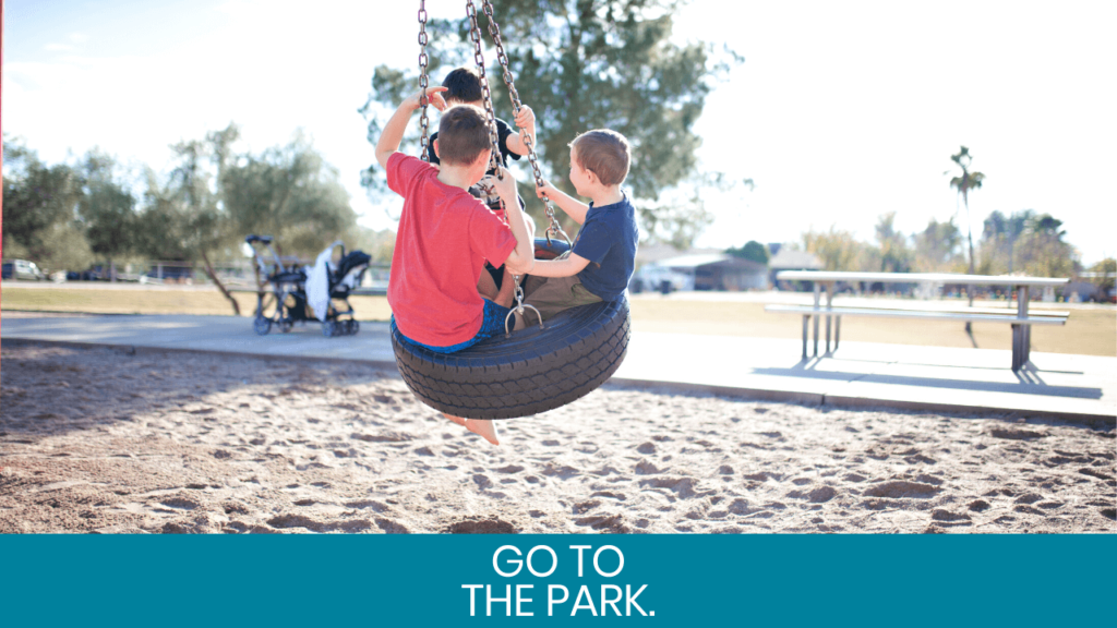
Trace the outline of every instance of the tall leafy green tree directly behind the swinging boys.
<instances>
[{"instance_id":1,"label":"tall leafy green tree directly behind the swinging boys","mask_svg":"<svg viewBox=\"0 0 1117 628\"><path fill-rule=\"evenodd\" d=\"M695 152L701 140L693 126L715 83L743 59L728 50L719 54L704 42L674 42L677 6L675 0L509 0L500 2L495 17L516 89L536 114L536 150L544 175L574 193L567 179L570 141L595 127L622 133L632 145L633 165L626 188L632 191L641 229L652 239L686 247L710 222L697 190L716 182L716 177L699 168ZM486 29L484 16L478 23ZM472 58L469 20L436 19L427 30L431 83L437 85L445 74L441 66ZM494 104L498 112L507 112L507 88L494 63L496 56L490 51L486 59ZM394 110L416 88L418 80L410 70L376 68L372 94L362 108L369 118L370 142L379 137L385 113L374 105ZM374 166L363 181L372 196L384 192ZM522 181L521 193L536 222L545 225L541 206L534 201L534 182ZM561 210L556 212L562 217Z\"/></svg>"}]
</instances>

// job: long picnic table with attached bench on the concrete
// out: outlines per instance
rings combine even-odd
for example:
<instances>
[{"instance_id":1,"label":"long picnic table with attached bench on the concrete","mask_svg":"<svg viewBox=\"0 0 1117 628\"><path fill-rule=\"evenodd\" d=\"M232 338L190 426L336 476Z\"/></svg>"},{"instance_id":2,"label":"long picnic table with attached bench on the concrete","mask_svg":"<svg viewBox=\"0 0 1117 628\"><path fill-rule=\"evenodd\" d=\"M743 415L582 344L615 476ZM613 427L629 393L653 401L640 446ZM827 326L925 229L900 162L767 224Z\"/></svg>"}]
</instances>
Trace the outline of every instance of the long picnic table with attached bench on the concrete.
<instances>
[{"instance_id":1,"label":"long picnic table with attached bench on the concrete","mask_svg":"<svg viewBox=\"0 0 1117 628\"><path fill-rule=\"evenodd\" d=\"M808 321L814 318L814 355L819 354L819 323L825 317L827 353L830 353L831 318L834 321L834 351L841 333L841 316L878 316L909 320L955 320L1000 322L1012 325L1012 370L1020 370L1028 363L1031 353L1032 325L1063 325L1069 312L1029 312L1029 291L1031 288L1054 287L1066 285L1070 279L1052 277L1018 277L1010 275L958 275L949 273L849 273L830 270L783 270L776 274L777 280L812 282L814 285L813 306L770 305L767 312L795 313L803 315L803 358L806 358ZM1016 293L1016 312L1008 314L990 308L965 308L956 311L885 308L885 307L834 307L834 286L838 283L885 283L885 284L918 284L932 283L942 285L964 286L1009 286ZM821 302L822 292L827 301ZM1011 294L1011 292L1010 292Z\"/></svg>"}]
</instances>

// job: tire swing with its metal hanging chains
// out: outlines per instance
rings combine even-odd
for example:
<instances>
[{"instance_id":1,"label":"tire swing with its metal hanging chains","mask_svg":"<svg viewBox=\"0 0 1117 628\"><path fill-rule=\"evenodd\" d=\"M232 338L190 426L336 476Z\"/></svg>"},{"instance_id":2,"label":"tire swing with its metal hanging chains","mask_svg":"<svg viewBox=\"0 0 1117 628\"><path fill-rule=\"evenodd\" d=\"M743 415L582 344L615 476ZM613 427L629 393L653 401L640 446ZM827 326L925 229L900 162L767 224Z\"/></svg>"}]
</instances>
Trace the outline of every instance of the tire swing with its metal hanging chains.
<instances>
[{"instance_id":1,"label":"tire swing with its metal hanging chains","mask_svg":"<svg viewBox=\"0 0 1117 628\"><path fill-rule=\"evenodd\" d=\"M423 4L420 1L419 83L426 88L427 12ZM493 18L493 6L489 0L484 0L483 7L488 18L489 35L504 68L504 80L508 86L512 104L518 113L522 103L513 85L508 59L500 42L500 29ZM496 165L495 160L500 154L497 148L496 115L485 76L480 29L472 0L467 0L466 13L471 23L470 37L481 77L481 93ZM421 103L422 158L428 160L426 97ZM524 140L536 184L542 185L543 175L535 156L534 137L525 135ZM544 196L543 201L551 223L545 231L546 237L535 240L535 258L552 259L570 250L571 244L570 237L555 218L551 200ZM562 236L565 241L552 240L552 235ZM523 288L517 282L517 303L513 311L521 315L525 307L531 307L524 305L523 297ZM392 325L392 350L400 375L423 403L469 419L510 419L565 406L604 383L624 360L631 326L628 297L621 294L610 302L565 310L548 318L545 324L541 322L537 327L522 330L515 335L506 333L490 337L455 353L436 353L412 344ZM506 322L506 331L508 327Z\"/></svg>"}]
</instances>

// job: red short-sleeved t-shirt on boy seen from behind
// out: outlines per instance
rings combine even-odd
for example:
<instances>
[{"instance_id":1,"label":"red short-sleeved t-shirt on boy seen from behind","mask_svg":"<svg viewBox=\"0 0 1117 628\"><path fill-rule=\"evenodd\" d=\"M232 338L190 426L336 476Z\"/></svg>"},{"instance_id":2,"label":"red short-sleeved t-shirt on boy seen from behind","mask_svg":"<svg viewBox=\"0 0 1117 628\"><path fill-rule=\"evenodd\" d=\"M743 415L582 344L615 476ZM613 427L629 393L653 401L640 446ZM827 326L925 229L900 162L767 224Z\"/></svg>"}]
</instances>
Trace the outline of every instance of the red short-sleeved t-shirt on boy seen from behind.
<instances>
[{"instance_id":1,"label":"red short-sleeved t-shirt on boy seen from behind","mask_svg":"<svg viewBox=\"0 0 1117 628\"><path fill-rule=\"evenodd\" d=\"M499 266L516 237L485 203L438 180L417 158L388 158L388 187L403 197L388 303L409 339L431 346L466 342L481 329L477 279L485 260Z\"/></svg>"}]
</instances>

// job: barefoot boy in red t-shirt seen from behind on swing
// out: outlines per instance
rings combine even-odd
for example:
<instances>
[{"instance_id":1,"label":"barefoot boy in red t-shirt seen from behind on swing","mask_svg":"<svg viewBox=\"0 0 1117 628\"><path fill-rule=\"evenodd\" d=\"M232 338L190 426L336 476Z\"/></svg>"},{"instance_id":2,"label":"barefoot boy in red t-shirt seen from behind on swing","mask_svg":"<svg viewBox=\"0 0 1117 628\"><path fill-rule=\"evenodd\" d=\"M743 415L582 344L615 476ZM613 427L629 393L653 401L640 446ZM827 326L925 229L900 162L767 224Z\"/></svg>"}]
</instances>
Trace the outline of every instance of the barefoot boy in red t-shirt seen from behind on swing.
<instances>
[{"instance_id":1,"label":"barefoot boy in red t-shirt seen from behind on swing","mask_svg":"<svg viewBox=\"0 0 1117 628\"><path fill-rule=\"evenodd\" d=\"M408 121L420 106L419 92L384 125L376 161L388 172L388 187L403 197L388 285L392 324L414 344L452 353L504 332L508 308L477 292L485 261L522 275L532 270L535 257L510 172L504 170L496 181L507 226L467 191L485 175L491 153L485 112L471 105L448 108L440 94L445 91L427 89L431 104L443 112L433 142L440 168L399 152ZM499 445L493 421L446 417Z\"/></svg>"}]
</instances>

